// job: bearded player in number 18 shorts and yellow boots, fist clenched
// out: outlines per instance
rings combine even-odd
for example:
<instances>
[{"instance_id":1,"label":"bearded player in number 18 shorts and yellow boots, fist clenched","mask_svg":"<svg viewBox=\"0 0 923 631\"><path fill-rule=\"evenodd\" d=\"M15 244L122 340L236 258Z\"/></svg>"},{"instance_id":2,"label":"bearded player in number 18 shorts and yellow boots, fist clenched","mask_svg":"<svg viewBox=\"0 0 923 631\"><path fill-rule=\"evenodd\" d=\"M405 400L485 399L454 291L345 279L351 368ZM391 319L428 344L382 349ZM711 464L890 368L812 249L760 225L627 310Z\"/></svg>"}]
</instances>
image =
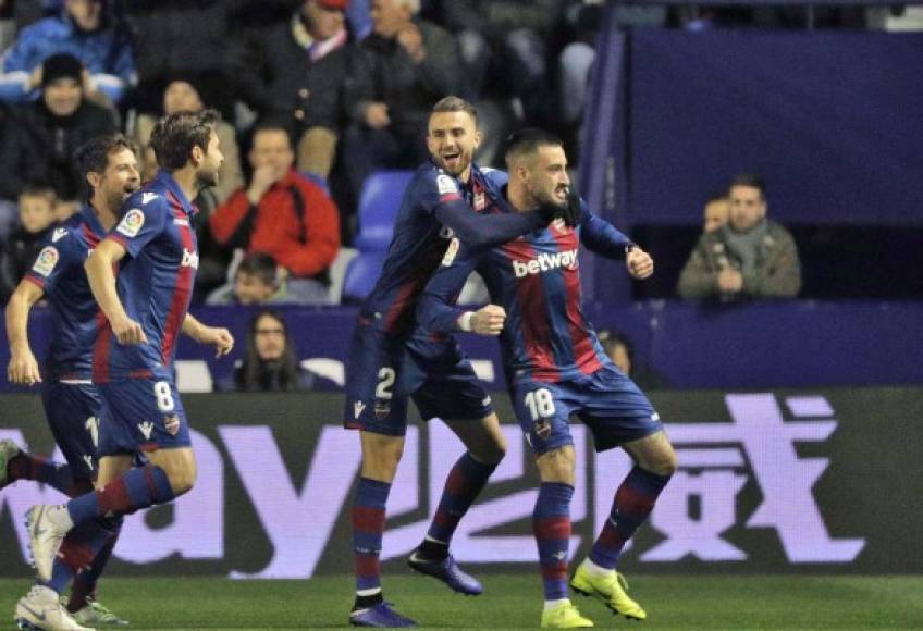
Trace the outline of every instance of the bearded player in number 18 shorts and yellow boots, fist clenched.
<instances>
[{"instance_id":1,"label":"bearded player in number 18 shorts and yellow boots, fist clenched","mask_svg":"<svg viewBox=\"0 0 923 631\"><path fill-rule=\"evenodd\" d=\"M635 468L615 493L610 519L570 585L617 614L644 619L647 614L625 593L615 567L625 542L669 481L676 455L648 398L606 357L583 317L577 255L582 240L602 256L625 257L636 279L653 273L653 260L569 191L567 159L557 138L538 129L519 132L510 139L506 161L507 194L491 200L492 212L515 214L540 203L569 206L579 211L577 226L555 222L490 249L450 246L420 301L420 324L445 334L496 334L503 329L507 387L541 475L532 527L544 581L542 627L592 627L567 592L575 482L569 417L577 415L590 426L598 450L622 446L632 458ZM475 269L495 302L484 308L493 313L485 330L473 325L478 313L453 306Z\"/></svg>"}]
</instances>

